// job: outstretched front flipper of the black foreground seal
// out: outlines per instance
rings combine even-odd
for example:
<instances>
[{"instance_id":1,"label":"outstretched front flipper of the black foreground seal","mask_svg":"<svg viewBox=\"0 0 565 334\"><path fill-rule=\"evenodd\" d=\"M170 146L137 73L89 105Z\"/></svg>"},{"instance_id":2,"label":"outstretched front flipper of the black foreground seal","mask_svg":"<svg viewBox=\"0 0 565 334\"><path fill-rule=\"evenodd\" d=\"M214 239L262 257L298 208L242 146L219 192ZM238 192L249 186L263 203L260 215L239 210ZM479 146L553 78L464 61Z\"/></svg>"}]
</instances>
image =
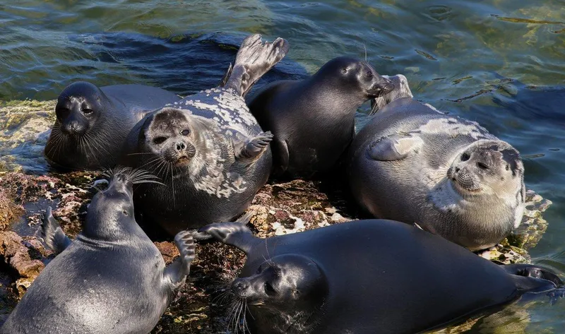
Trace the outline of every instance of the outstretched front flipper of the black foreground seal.
<instances>
[{"instance_id":1,"label":"outstretched front flipper of the black foreground seal","mask_svg":"<svg viewBox=\"0 0 565 334\"><path fill-rule=\"evenodd\" d=\"M198 229L198 232L209 234L224 244L236 246L246 254L260 240L241 222L215 222Z\"/></svg>"}]
</instances>

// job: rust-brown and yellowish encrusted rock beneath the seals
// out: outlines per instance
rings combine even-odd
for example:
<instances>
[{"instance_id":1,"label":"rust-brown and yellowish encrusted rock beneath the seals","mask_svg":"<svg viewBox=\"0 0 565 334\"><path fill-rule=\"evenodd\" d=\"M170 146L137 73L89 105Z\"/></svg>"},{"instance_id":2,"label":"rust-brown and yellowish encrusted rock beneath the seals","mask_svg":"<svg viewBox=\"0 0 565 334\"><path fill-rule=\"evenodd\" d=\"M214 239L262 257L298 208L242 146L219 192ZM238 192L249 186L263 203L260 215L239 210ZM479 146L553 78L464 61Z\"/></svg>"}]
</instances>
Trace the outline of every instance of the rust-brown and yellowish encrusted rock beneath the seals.
<instances>
[{"instance_id":1,"label":"rust-brown and yellowish encrusted rock beneath the seals","mask_svg":"<svg viewBox=\"0 0 565 334\"><path fill-rule=\"evenodd\" d=\"M39 236L47 206L53 208L64 232L76 236L94 193L91 186L102 178L88 172L49 172L41 153L54 120L53 107L54 102L35 101L0 107L0 124L4 124L0 125L0 323L52 258ZM363 217L347 204L350 201L340 188L301 180L267 184L249 207L250 226L259 237L269 237ZM534 191L528 191L527 201L521 227L480 256L498 263L530 261L528 249L547 229L542 213L551 201ZM167 263L178 256L172 242L155 244ZM187 284L152 333L225 333L229 308L221 292L243 263L244 255L237 249L221 244L198 246Z\"/></svg>"}]
</instances>

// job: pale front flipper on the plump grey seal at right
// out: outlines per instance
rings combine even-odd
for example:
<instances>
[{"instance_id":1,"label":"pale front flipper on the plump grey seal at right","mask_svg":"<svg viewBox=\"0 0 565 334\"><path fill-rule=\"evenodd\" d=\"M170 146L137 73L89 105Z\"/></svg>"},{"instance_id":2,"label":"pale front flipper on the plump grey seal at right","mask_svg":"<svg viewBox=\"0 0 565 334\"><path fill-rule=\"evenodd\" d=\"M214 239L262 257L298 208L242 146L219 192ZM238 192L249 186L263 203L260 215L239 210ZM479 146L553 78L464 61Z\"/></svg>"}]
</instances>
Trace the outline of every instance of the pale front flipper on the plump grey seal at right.
<instances>
[{"instance_id":1,"label":"pale front flipper on the plump grey seal at right","mask_svg":"<svg viewBox=\"0 0 565 334\"><path fill-rule=\"evenodd\" d=\"M417 152L424 145L418 136L400 135L395 133L391 136L381 137L369 145L367 153L369 157L379 161L393 161L404 159L410 152Z\"/></svg>"}]
</instances>

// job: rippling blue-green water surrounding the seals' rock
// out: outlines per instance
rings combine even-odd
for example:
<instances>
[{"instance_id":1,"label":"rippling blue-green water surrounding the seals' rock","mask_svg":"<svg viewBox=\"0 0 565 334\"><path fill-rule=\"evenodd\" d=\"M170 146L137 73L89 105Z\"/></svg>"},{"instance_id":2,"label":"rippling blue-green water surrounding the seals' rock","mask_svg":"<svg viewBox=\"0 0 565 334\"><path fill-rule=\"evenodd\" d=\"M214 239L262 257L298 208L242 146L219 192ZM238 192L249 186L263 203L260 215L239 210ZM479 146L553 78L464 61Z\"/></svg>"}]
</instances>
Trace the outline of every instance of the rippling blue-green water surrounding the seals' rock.
<instances>
[{"instance_id":1,"label":"rippling blue-green water surrounding the seals' rock","mask_svg":"<svg viewBox=\"0 0 565 334\"><path fill-rule=\"evenodd\" d=\"M289 40L280 73L290 77L367 49L380 73L405 74L418 99L479 121L521 151L527 187L554 201L530 254L565 270L564 8L565 0L8 0L0 100L52 100L73 80L194 93L220 80L230 45L251 32ZM529 311L528 333L565 333L565 301Z\"/></svg>"}]
</instances>

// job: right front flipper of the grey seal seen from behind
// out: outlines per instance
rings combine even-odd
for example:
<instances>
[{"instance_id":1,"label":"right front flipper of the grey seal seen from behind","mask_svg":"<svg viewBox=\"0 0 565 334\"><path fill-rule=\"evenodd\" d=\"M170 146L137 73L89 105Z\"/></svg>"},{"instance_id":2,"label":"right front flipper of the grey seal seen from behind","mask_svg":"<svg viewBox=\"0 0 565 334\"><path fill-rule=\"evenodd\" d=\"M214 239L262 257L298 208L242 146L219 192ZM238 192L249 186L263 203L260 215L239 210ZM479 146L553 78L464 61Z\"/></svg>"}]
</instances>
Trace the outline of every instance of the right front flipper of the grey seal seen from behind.
<instances>
[{"instance_id":1,"label":"right front flipper of the grey seal seen from behind","mask_svg":"<svg viewBox=\"0 0 565 334\"><path fill-rule=\"evenodd\" d=\"M194 239L192 239L191 232L181 231L174 237L174 244L179 249L179 256L173 263L171 263L165 272L163 278L170 290L176 290L184 284L186 276L190 273L190 264L194 260Z\"/></svg>"}]
</instances>

